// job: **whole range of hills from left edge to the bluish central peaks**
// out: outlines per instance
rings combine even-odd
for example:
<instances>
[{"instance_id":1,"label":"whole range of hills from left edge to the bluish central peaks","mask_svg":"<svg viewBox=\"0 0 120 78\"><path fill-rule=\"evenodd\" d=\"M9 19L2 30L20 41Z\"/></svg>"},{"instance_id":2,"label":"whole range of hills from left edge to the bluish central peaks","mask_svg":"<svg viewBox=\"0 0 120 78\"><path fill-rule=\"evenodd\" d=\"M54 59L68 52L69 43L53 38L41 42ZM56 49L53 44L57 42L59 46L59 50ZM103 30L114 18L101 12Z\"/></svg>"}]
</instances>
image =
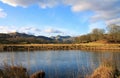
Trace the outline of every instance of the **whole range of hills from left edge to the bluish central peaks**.
<instances>
[{"instance_id":1,"label":"whole range of hills from left edge to the bluish central peaks","mask_svg":"<svg viewBox=\"0 0 120 78\"><path fill-rule=\"evenodd\" d=\"M56 36L56 37L46 37L46 36L34 36L25 33L0 33L0 44L47 44L47 43L71 43L72 37L70 36Z\"/></svg>"}]
</instances>

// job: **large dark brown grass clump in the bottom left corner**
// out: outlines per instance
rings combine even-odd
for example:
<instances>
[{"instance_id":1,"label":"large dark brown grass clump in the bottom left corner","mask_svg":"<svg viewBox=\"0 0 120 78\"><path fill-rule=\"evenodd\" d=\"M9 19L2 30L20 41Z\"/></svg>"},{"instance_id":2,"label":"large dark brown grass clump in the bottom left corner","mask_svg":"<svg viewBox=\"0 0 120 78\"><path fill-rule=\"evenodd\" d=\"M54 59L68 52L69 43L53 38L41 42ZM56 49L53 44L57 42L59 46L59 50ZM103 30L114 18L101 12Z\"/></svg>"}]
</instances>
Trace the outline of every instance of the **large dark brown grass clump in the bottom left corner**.
<instances>
[{"instance_id":1,"label":"large dark brown grass clump in the bottom left corner","mask_svg":"<svg viewBox=\"0 0 120 78\"><path fill-rule=\"evenodd\" d=\"M29 78L26 68L5 64L0 69L0 78Z\"/></svg>"}]
</instances>

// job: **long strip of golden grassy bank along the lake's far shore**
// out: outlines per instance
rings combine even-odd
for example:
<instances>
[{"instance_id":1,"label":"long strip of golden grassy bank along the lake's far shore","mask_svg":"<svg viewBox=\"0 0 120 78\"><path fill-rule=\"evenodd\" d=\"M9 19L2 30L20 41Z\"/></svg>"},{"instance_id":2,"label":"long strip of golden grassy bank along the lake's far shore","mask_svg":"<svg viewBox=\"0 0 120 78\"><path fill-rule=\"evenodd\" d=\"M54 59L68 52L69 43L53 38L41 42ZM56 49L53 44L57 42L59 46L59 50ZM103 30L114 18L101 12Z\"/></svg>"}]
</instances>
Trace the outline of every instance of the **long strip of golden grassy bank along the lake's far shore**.
<instances>
[{"instance_id":1,"label":"long strip of golden grassy bank along the lake's far shore","mask_svg":"<svg viewBox=\"0 0 120 78\"><path fill-rule=\"evenodd\" d=\"M0 51L33 50L120 50L120 44L0 44Z\"/></svg>"}]
</instances>

